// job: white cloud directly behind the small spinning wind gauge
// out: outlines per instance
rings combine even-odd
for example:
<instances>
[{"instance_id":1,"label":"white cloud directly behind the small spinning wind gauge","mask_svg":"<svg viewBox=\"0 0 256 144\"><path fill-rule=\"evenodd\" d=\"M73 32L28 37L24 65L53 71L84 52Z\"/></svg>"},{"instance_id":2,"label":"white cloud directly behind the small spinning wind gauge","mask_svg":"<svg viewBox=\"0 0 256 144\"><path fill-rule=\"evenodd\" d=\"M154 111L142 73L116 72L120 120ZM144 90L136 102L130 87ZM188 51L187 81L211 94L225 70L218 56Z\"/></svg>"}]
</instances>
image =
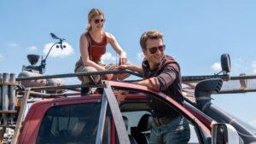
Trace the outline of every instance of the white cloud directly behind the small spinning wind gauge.
<instances>
[{"instance_id":1,"label":"white cloud directly behind the small spinning wind gauge","mask_svg":"<svg viewBox=\"0 0 256 144\"><path fill-rule=\"evenodd\" d=\"M53 43L47 43L44 45L44 55L47 55L49 52L49 49L51 48ZM61 49L60 44L56 44L50 51L49 56L50 57L65 57L67 55L72 55L73 54L73 48L70 44L68 43L63 43L63 46L66 46L66 48ZM57 48L56 46L59 46Z\"/></svg>"}]
</instances>

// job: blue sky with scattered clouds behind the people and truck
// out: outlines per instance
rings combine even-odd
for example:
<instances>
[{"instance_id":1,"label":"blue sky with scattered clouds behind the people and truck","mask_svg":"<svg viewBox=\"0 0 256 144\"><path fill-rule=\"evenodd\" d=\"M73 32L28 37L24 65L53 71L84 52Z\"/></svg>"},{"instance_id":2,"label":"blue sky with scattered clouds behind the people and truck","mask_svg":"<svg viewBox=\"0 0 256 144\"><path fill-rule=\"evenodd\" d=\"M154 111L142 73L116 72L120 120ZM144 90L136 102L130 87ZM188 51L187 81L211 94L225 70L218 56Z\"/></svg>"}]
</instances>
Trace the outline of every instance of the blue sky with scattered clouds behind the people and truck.
<instances>
[{"instance_id":1,"label":"blue sky with scattered clouds behind the people and truck","mask_svg":"<svg viewBox=\"0 0 256 144\"><path fill-rule=\"evenodd\" d=\"M27 54L45 55L54 32L67 39L67 49L54 49L46 73L73 72L79 59L79 36L92 8L106 15L105 30L111 32L131 63L141 63L139 37L148 30L164 34L166 54L181 65L183 76L216 73L212 66L229 53L231 75L256 74L256 2L215 1L93 1L44 0L0 1L0 72L21 71ZM108 46L106 62L116 54ZM215 65L214 65L215 64ZM216 95L214 103L256 127L255 93Z\"/></svg>"}]
</instances>

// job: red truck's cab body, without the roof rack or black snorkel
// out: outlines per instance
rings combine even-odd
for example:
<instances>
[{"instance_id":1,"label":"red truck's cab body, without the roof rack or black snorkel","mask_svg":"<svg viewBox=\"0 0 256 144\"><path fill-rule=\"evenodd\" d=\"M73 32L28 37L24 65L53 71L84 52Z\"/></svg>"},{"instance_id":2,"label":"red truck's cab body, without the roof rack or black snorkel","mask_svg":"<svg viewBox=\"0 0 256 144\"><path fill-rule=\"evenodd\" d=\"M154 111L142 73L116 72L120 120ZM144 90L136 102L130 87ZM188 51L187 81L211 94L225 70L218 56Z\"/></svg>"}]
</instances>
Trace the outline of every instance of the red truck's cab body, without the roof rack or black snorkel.
<instances>
[{"instance_id":1,"label":"red truck's cab body, without the roof rack or black snorkel","mask_svg":"<svg viewBox=\"0 0 256 144\"><path fill-rule=\"evenodd\" d=\"M221 84L221 80L217 81ZM214 83L216 80L207 82ZM34 103L27 112L17 143L148 143L148 130L152 123L148 107L149 96L159 98L163 104L182 113L189 120L197 139L193 143L256 141L256 137L246 129L239 131L246 131L251 137L239 136L230 124L218 124L193 105L185 103L181 106L167 95L155 93L147 87L108 81L104 82L103 87L103 95L49 99ZM217 87L213 90L221 88L219 85ZM118 102L117 90L130 94L126 95L124 101ZM128 131L125 127L129 128Z\"/></svg>"}]
</instances>

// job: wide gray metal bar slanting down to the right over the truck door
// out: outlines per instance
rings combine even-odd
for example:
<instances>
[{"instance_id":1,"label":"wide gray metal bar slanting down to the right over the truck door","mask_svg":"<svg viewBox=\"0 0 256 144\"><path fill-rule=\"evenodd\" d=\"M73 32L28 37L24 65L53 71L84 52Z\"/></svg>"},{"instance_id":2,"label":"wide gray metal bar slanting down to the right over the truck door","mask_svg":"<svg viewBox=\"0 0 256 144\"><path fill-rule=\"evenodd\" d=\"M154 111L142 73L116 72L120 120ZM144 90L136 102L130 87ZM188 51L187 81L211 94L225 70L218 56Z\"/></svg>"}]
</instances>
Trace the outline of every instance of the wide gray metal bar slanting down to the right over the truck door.
<instances>
[{"instance_id":1,"label":"wide gray metal bar slanting down to the right over the truck door","mask_svg":"<svg viewBox=\"0 0 256 144\"><path fill-rule=\"evenodd\" d=\"M107 83L108 82L105 83L106 87L104 87L104 92L107 95L109 107L112 112L113 122L115 124L115 128L119 138L119 144L130 144L131 142L129 140L127 130L125 128L125 122L119 109L119 103L113 95L113 90Z\"/></svg>"}]
</instances>

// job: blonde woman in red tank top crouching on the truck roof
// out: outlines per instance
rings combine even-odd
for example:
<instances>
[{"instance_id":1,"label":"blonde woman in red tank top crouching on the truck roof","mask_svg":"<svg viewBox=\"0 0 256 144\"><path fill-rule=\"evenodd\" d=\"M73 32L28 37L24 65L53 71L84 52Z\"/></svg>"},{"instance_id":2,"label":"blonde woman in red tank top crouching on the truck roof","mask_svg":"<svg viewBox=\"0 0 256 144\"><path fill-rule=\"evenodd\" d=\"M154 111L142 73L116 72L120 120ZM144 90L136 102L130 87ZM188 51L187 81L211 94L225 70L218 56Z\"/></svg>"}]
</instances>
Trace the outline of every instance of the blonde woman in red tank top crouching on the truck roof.
<instances>
[{"instance_id":1,"label":"blonde woman in red tank top crouching on the truck roof","mask_svg":"<svg viewBox=\"0 0 256 144\"><path fill-rule=\"evenodd\" d=\"M105 25L105 15L101 9L91 9L88 14L88 26L86 32L80 36L80 59L75 65L75 72L97 72L105 70L113 70L117 66L110 64L102 65L102 55L106 53L106 46L109 43L116 53L119 55L119 64L127 62L126 53L120 47L116 38L109 32L105 32L103 27ZM106 74L102 76L105 79L122 80L129 77L128 74ZM100 76L93 77L79 77L83 84L89 84L93 79L95 82L99 81ZM88 91L88 89L87 89Z\"/></svg>"}]
</instances>

